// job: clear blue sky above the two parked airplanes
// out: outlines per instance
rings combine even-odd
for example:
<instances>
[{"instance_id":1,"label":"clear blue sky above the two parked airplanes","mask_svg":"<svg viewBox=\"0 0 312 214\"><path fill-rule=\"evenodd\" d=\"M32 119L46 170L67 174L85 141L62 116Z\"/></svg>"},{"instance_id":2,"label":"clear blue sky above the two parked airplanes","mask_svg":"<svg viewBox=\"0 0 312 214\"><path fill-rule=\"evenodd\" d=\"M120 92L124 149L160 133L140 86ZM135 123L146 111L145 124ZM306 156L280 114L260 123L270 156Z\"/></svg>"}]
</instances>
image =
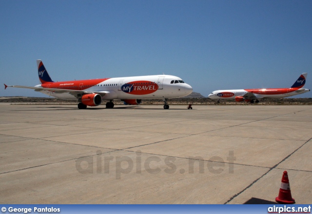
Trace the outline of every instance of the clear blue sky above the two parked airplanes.
<instances>
[{"instance_id":1,"label":"clear blue sky above the two parked airplanes","mask_svg":"<svg viewBox=\"0 0 312 214\"><path fill-rule=\"evenodd\" d=\"M54 81L165 73L208 96L308 72L312 89L311 14L311 0L1 0L0 79L38 85L41 59Z\"/></svg>"}]
</instances>

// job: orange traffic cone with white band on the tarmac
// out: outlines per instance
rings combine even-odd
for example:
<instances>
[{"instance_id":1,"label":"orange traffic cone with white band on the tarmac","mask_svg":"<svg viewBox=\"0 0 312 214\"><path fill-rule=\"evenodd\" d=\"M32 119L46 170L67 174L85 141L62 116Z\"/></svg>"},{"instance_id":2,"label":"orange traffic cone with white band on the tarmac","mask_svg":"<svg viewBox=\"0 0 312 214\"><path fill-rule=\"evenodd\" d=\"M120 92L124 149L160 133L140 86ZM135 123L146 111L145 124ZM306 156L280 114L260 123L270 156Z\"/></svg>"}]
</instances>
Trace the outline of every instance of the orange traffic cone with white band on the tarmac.
<instances>
[{"instance_id":1,"label":"orange traffic cone with white band on the tarmac","mask_svg":"<svg viewBox=\"0 0 312 214\"><path fill-rule=\"evenodd\" d=\"M294 204L295 201L292 198L291 187L289 185L287 171L284 171L281 188L279 188L278 197L275 198L275 201L280 204Z\"/></svg>"}]
</instances>

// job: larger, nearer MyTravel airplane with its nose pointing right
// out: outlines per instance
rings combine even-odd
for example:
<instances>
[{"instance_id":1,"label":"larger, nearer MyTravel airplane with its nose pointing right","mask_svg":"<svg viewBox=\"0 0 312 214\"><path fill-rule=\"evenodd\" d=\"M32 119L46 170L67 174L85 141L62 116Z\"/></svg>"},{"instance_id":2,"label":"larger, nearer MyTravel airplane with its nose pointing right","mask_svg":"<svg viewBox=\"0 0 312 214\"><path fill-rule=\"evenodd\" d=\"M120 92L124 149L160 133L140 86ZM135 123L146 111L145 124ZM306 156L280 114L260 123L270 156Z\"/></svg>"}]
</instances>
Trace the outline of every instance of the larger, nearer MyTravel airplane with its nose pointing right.
<instances>
[{"instance_id":1,"label":"larger, nearer MyTravel airplane with its nose pointing right","mask_svg":"<svg viewBox=\"0 0 312 214\"><path fill-rule=\"evenodd\" d=\"M75 80L54 82L46 71L42 61L37 60L38 76L41 82L35 87L7 87L35 89L41 93L60 99L78 100L78 108L98 106L102 100L108 100L106 108L113 108L113 100L124 101L125 105L138 105L141 99L163 99L164 109L169 109L168 98L187 96L193 88L177 76L150 75L105 79Z\"/></svg>"}]
</instances>

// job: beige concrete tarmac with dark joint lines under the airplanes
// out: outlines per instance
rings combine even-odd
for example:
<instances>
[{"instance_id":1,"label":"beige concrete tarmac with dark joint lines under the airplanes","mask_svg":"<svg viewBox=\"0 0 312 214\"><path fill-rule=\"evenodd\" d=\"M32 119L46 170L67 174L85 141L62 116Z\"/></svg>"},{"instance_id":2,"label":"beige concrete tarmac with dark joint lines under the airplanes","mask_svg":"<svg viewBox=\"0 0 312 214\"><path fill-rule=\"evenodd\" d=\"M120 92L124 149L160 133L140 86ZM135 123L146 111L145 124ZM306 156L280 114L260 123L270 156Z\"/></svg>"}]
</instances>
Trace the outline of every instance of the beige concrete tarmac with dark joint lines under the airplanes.
<instances>
[{"instance_id":1,"label":"beige concrete tarmac with dark joint lines under the airplanes","mask_svg":"<svg viewBox=\"0 0 312 214\"><path fill-rule=\"evenodd\" d=\"M1 204L312 198L312 106L0 104Z\"/></svg>"}]
</instances>

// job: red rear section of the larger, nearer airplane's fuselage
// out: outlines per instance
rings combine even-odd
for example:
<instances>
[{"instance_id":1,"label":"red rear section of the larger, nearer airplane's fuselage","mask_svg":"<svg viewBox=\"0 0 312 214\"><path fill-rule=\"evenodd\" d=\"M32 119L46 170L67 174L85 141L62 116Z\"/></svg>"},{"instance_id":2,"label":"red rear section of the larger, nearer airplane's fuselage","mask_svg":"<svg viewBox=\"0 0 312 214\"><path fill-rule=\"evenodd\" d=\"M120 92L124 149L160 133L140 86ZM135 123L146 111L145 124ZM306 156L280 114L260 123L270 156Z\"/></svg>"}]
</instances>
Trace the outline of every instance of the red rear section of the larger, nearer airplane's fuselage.
<instances>
[{"instance_id":1,"label":"red rear section of the larger, nearer airplane's fuselage","mask_svg":"<svg viewBox=\"0 0 312 214\"><path fill-rule=\"evenodd\" d=\"M90 80L75 80L75 81L65 81L65 82L46 82L41 84L43 88L49 89L69 89L69 90L84 90L98 85L110 78L106 79L90 79ZM80 84L82 83L82 88Z\"/></svg>"}]
</instances>

